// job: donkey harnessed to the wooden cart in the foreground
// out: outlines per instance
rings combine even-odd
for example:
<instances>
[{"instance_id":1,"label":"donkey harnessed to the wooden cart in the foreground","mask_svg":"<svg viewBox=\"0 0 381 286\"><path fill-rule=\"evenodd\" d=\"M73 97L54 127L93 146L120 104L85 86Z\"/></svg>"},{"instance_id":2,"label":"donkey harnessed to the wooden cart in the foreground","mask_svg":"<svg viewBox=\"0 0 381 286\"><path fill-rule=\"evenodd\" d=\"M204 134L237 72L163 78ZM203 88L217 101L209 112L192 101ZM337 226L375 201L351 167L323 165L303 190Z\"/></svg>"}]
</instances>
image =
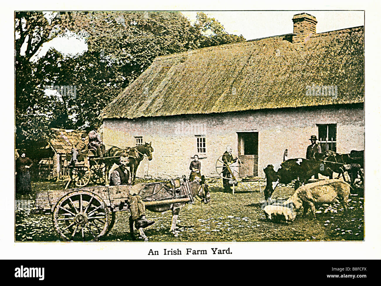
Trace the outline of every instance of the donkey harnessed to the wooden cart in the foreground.
<instances>
[{"instance_id":1,"label":"donkey harnessed to the wooden cart in the foreground","mask_svg":"<svg viewBox=\"0 0 381 286\"><path fill-rule=\"evenodd\" d=\"M184 183L188 181L185 177ZM173 180L173 183L160 183L160 182L154 182L149 184L139 183L142 184L142 189L139 191L139 196L142 197L143 201L155 201L155 200L165 200L168 198L176 197L176 195L183 195L184 188L180 187L180 179ZM189 181L188 181L189 182ZM177 187L177 188L176 188ZM210 193L209 193L209 187L207 182L205 182L205 176L195 177L194 181L189 182L189 189L192 193L193 198L200 198L201 203L209 203L210 202ZM156 205L156 206L146 206L146 209L153 211L155 213L162 213L163 211L172 211L172 222L171 222L171 228L169 230L170 233L172 233L174 236L178 236L178 231L176 231L176 221L178 218L178 215L180 213L180 209L184 207L186 202L184 203L172 203L172 204L166 204L166 205ZM136 239L134 235L134 222L130 216L129 219L130 222L130 235L133 240ZM139 232L141 236L147 240L147 237L144 235L144 232L142 229L139 229Z\"/></svg>"}]
</instances>

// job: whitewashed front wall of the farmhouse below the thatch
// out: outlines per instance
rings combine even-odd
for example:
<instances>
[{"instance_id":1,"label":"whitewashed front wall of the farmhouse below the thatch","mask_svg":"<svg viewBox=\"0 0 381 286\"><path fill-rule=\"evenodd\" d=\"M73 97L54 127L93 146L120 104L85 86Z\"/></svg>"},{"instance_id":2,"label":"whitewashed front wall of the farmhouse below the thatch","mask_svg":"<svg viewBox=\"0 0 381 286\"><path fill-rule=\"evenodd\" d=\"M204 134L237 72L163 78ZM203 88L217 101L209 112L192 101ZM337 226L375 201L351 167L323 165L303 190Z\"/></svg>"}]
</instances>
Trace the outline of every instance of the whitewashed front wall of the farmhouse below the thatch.
<instances>
[{"instance_id":1,"label":"whitewashed front wall of the farmhouse below the thatch","mask_svg":"<svg viewBox=\"0 0 381 286\"><path fill-rule=\"evenodd\" d=\"M154 159L144 159L137 176L177 177L189 175L191 157L196 153L195 135L205 135L206 158L201 158L202 174L217 176L215 163L227 145L238 153L237 131L256 129L259 132L258 171L288 158L305 158L308 140L318 136L316 124L337 124L337 152L349 153L364 149L363 105L325 106L232 112L210 115L139 118L136 120L104 120L105 144L134 146L134 136L151 142ZM109 146L106 145L106 149Z\"/></svg>"}]
</instances>

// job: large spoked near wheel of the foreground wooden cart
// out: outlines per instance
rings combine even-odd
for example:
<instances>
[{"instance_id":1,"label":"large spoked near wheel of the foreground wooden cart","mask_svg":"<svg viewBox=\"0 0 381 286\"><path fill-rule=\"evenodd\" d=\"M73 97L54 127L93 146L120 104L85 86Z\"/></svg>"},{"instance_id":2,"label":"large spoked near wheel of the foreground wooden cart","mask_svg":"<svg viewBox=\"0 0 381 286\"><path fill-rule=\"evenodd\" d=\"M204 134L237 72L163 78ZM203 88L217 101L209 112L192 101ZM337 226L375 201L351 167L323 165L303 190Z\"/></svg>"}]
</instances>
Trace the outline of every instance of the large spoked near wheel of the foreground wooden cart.
<instances>
[{"instance_id":1,"label":"large spoked near wheel of the foreground wooden cart","mask_svg":"<svg viewBox=\"0 0 381 286\"><path fill-rule=\"evenodd\" d=\"M64 240L96 241L109 228L112 215L98 195L77 191L62 197L53 211L53 223Z\"/></svg>"}]
</instances>

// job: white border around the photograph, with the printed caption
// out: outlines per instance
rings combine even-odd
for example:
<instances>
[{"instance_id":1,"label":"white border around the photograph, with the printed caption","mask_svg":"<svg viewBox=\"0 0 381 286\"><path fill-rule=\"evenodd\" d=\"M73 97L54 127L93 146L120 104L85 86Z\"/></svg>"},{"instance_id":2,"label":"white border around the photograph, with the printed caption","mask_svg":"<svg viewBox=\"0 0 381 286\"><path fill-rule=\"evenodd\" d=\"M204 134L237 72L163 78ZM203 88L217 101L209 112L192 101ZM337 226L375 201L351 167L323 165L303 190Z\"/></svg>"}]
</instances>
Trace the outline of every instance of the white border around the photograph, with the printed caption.
<instances>
[{"instance_id":1,"label":"white border around the photograph, with the printed caption","mask_svg":"<svg viewBox=\"0 0 381 286\"><path fill-rule=\"evenodd\" d=\"M365 188L365 242L247 242L247 243L14 243L13 205L7 208L6 201L13 197L13 148L14 148L14 70L13 62L13 11L14 10L365 10L365 161L367 177ZM380 4L377 1L327 1L326 3L305 1L272 1L271 3L253 3L234 1L192 1L187 4L179 1L160 2L78 2L52 3L51 1L18 1L3 3L1 11L2 34L2 70L1 78L3 104L1 114L2 164L0 165L0 251L3 259L70 259L70 253L86 252L88 259L379 259L381 258L380 206L380 97L378 89L380 79L379 52L379 14ZM5 207L4 207L5 206ZM168 249L209 249L211 247L230 247L233 254L228 256L147 256L150 248L162 252ZM282 254L283 253L283 254ZM120 255L122 254L122 255ZM124 255L123 255L124 254ZM290 255L293 254L293 255ZM81 255L78 258L83 258Z\"/></svg>"}]
</instances>

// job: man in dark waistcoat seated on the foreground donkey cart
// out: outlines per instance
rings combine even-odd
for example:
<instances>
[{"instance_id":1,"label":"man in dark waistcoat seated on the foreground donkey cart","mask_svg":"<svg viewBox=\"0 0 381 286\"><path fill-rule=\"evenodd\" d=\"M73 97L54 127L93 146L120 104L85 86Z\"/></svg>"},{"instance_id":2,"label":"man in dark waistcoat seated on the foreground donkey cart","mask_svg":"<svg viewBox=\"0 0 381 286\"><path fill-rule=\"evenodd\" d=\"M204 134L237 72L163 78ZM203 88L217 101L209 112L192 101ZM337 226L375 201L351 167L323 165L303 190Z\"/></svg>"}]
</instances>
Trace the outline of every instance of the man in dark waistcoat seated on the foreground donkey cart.
<instances>
[{"instance_id":1,"label":"man in dark waistcoat seated on the foreground donkey cart","mask_svg":"<svg viewBox=\"0 0 381 286\"><path fill-rule=\"evenodd\" d=\"M129 163L128 154L123 153L119 157L119 167L110 175L110 185L130 185L130 172L127 169ZM126 195L128 208L131 211L131 218L135 222L136 228L145 228L155 222L146 219L146 206L139 195Z\"/></svg>"}]
</instances>

